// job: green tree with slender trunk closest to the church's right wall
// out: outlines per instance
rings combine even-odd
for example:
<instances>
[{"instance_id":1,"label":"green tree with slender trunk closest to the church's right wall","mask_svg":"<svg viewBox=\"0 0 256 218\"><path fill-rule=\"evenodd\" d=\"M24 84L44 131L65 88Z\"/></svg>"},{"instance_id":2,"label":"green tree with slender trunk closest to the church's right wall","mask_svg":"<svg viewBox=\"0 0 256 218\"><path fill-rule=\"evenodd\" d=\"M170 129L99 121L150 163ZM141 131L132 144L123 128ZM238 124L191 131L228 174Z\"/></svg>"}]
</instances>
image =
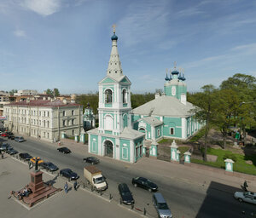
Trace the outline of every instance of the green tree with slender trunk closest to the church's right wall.
<instances>
[{"instance_id":1,"label":"green tree with slender trunk closest to the church's right wall","mask_svg":"<svg viewBox=\"0 0 256 218\"><path fill-rule=\"evenodd\" d=\"M212 84L205 85L201 88L202 92L195 93L190 96L196 107L192 109L191 112L195 112L195 118L201 123L206 123L205 133L204 133L204 161L207 161L207 136L214 120L214 106L215 104L215 93L216 89Z\"/></svg>"}]
</instances>

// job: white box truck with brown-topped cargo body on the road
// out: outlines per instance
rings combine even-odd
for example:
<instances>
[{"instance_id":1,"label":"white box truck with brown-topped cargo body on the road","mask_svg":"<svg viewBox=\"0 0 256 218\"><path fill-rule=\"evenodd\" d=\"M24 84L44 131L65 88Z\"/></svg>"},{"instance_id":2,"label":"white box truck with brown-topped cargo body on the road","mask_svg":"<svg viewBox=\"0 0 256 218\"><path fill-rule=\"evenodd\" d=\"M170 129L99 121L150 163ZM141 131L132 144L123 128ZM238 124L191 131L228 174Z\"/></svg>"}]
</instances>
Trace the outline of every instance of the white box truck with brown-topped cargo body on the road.
<instances>
[{"instance_id":1,"label":"white box truck with brown-topped cargo body on the road","mask_svg":"<svg viewBox=\"0 0 256 218\"><path fill-rule=\"evenodd\" d=\"M102 170L97 169L96 166L84 167L84 178L89 181L90 185L98 192L108 188L105 177L102 175Z\"/></svg>"}]
</instances>

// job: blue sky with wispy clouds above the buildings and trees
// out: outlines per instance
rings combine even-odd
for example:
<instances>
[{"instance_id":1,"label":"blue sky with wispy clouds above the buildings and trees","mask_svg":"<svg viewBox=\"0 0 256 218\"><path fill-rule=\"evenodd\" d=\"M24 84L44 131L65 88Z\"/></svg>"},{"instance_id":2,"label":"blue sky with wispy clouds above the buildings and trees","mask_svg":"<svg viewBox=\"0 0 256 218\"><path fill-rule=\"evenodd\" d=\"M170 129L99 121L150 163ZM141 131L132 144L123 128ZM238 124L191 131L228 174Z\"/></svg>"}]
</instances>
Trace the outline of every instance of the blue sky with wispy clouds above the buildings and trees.
<instances>
[{"instance_id":1,"label":"blue sky with wispy clouds above the buildings and trees","mask_svg":"<svg viewBox=\"0 0 256 218\"><path fill-rule=\"evenodd\" d=\"M256 77L255 11L249 0L1 0L0 89L95 92L113 23L134 93L163 89L174 61L189 91Z\"/></svg>"}]
</instances>

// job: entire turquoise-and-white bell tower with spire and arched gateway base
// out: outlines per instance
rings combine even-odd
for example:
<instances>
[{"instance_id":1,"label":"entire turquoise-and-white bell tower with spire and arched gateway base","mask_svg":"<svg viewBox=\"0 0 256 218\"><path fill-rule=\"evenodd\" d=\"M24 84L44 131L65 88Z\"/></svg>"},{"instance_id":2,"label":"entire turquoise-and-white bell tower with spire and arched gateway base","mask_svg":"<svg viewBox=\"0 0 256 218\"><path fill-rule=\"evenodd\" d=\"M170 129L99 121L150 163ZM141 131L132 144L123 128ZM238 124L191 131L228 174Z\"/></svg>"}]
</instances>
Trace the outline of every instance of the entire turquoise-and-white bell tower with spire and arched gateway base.
<instances>
[{"instance_id":1,"label":"entire turquoise-and-white bell tower with spire and arched gateway base","mask_svg":"<svg viewBox=\"0 0 256 218\"><path fill-rule=\"evenodd\" d=\"M143 157L144 134L131 127L131 82L123 74L113 31L107 76L99 86L99 127L89 130L90 153L135 163Z\"/></svg>"}]
</instances>

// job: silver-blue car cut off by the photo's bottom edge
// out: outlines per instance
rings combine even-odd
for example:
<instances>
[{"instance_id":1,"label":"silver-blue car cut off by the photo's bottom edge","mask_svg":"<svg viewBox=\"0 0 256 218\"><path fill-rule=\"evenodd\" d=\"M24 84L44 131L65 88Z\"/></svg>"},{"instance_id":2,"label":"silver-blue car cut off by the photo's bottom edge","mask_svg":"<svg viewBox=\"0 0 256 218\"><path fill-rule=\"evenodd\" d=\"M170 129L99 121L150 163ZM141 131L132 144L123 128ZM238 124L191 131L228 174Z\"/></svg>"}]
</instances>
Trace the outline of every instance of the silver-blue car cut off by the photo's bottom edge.
<instances>
[{"instance_id":1,"label":"silver-blue car cut off by the photo's bottom edge","mask_svg":"<svg viewBox=\"0 0 256 218\"><path fill-rule=\"evenodd\" d=\"M168 205L166 204L165 198L160 192L156 192L153 194L153 204L159 217L172 217L171 210L169 209Z\"/></svg>"}]
</instances>

